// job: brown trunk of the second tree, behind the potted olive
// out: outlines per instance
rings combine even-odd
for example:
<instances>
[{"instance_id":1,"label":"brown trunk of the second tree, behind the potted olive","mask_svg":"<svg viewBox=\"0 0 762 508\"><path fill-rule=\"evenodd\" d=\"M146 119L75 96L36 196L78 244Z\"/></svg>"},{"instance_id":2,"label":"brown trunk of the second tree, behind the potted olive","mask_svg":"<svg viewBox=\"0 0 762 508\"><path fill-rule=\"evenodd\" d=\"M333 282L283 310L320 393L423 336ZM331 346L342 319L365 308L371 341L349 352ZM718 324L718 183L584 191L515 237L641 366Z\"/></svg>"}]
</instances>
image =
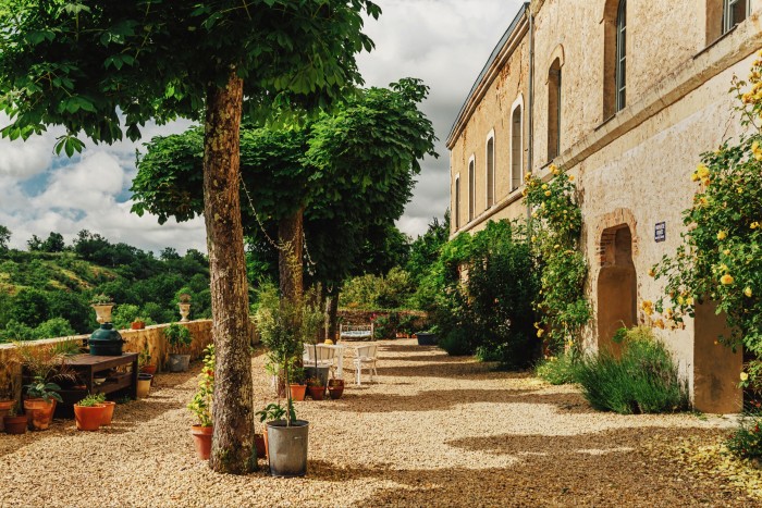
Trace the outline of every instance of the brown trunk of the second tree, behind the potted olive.
<instances>
[{"instance_id":1,"label":"brown trunk of the second tree, behind the potted olive","mask_svg":"<svg viewBox=\"0 0 762 508\"><path fill-rule=\"evenodd\" d=\"M304 295L304 207L278 223L278 239L287 250L278 252L278 272L281 294L291 301Z\"/></svg>"}]
</instances>

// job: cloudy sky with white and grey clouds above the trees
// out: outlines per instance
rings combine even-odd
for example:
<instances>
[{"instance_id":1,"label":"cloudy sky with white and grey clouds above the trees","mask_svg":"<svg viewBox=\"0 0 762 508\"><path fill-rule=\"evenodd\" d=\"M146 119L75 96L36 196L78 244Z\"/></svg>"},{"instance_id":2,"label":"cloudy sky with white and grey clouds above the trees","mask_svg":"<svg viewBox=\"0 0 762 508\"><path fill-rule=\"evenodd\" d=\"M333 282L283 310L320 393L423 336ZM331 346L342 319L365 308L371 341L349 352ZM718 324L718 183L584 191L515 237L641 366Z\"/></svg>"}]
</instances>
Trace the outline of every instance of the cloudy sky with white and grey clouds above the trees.
<instances>
[{"instance_id":1,"label":"cloudy sky with white and grey clouds above the trees","mask_svg":"<svg viewBox=\"0 0 762 508\"><path fill-rule=\"evenodd\" d=\"M431 87L423 111L440 141L439 159L423 162L415 197L398 222L416 236L448 206L448 161L444 139L484 61L521 4L518 0L376 0L383 10L366 33L376 50L358 62L368 86L385 86L401 77L419 77ZM8 119L0 116L0 126ZM176 122L143 129L144 138L179 133ZM168 222L130 213L128 188L135 175L135 150L140 144L106 147L87 143L72 159L52 153L61 131L50 129L26 143L0 140L0 224L13 236L11 246L26 248L33 234L46 238L61 233L67 243L81 230L111 241L146 250L167 246L184 252L206 250L204 222Z\"/></svg>"}]
</instances>

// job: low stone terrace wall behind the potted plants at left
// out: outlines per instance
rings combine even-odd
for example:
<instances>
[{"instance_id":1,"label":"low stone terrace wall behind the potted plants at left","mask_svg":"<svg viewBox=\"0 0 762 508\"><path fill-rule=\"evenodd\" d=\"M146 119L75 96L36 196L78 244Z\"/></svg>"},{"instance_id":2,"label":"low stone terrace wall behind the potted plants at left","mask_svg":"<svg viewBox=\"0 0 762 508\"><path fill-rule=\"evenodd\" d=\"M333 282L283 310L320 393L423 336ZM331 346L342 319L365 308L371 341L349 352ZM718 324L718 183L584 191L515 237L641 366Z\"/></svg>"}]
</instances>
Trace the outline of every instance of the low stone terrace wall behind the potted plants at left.
<instances>
[{"instance_id":1,"label":"low stone terrace wall behind the potted plants at left","mask_svg":"<svg viewBox=\"0 0 762 508\"><path fill-rule=\"evenodd\" d=\"M190 357L193 359L200 358L204 354L204 348L211 340L211 320L197 320L182 323L190 331L193 343L190 344ZM120 330L122 338L126 340L124 344L125 352L140 352L144 347L148 347L148 352L151 356L151 363L158 365L158 371L167 363L169 358L169 344L164 339L164 329L169 324L157 324L146 326L144 330ZM36 347L45 347L56 343L76 342L83 344L84 339L89 338L89 335L73 335L69 337L46 338L42 340L34 340L26 344L32 344ZM16 361L15 346L13 344L0 344L0 387L9 386L13 381L16 400L21 397L21 365Z\"/></svg>"}]
</instances>

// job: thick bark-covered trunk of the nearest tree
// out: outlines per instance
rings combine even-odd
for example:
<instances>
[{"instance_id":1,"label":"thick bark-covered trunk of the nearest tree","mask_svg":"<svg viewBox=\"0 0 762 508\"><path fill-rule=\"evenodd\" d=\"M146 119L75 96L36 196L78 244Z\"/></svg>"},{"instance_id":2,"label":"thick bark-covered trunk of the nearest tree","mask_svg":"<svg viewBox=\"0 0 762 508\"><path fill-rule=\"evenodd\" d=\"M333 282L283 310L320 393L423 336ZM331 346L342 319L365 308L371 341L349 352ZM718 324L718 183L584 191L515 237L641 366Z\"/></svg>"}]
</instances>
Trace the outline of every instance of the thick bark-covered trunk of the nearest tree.
<instances>
[{"instance_id":1,"label":"thick bark-covered trunk of the nearest tree","mask_svg":"<svg viewBox=\"0 0 762 508\"><path fill-rule=\"evenodd\" d=\"M257 468L249 356L248 283L241 226L239 135L243 80L207 89L204 133L204 218L211 278L214 363L212 470L245 474Z\"/></svg>"}]
</instances>

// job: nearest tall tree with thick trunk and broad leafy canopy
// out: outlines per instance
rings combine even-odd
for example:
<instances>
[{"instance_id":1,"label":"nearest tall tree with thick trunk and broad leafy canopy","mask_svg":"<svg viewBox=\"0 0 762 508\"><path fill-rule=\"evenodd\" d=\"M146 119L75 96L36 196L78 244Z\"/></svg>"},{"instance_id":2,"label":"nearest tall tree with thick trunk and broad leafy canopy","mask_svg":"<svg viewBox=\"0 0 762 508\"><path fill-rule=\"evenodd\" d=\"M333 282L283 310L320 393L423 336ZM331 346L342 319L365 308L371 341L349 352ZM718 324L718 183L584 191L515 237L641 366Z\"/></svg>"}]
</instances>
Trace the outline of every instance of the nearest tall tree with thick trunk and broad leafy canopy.
<instances>
[{"instance_id":1,"label":"nearest tall tree with thick trunk and broad leafy canopy","mask_svg":"<svg viewBox=\"0 0 762 508\"><path fill-rule=\"evenodd\" d=\"M256 467L248 293L238 200L244 107L265 117L328 106L360 80L355 53L370 0L134 2L13 0L0 9L1 132L15 139L63 125L57 150L85 136L136 140L140 126L204 122L204 203L217 346L214 436L220 472ZM246 101L244 101L246 98ZM124 124L123 124L124 122Z\"/></svg>"}]
</instances>

